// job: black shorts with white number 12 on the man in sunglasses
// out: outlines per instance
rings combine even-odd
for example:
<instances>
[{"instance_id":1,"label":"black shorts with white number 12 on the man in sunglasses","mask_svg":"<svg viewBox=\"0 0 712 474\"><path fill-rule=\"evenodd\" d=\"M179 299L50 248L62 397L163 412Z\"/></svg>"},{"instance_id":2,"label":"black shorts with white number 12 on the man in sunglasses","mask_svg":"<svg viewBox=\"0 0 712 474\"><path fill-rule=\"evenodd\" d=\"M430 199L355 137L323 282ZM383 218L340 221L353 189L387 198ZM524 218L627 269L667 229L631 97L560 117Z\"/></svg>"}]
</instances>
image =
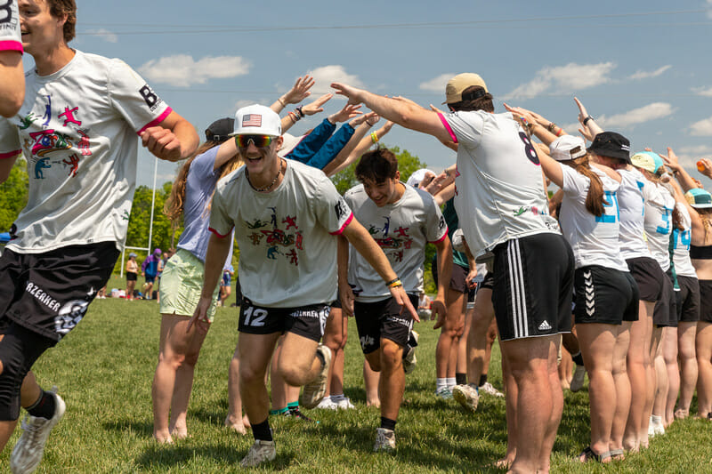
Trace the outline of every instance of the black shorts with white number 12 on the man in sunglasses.
<instances>
[{"instance_id":1,"label":"black shorts with white number 12 on the man in sunglasses","mask_svg":"<svg viewBox=\"0 0 712 474\"><path fill-rule=\"evenodd\" d=\"M248 334L295 333L321 341L331 308L311 304L300 308L266 308L242 298L239 307L239 332Z\"/></svg>"}]
</instances>

